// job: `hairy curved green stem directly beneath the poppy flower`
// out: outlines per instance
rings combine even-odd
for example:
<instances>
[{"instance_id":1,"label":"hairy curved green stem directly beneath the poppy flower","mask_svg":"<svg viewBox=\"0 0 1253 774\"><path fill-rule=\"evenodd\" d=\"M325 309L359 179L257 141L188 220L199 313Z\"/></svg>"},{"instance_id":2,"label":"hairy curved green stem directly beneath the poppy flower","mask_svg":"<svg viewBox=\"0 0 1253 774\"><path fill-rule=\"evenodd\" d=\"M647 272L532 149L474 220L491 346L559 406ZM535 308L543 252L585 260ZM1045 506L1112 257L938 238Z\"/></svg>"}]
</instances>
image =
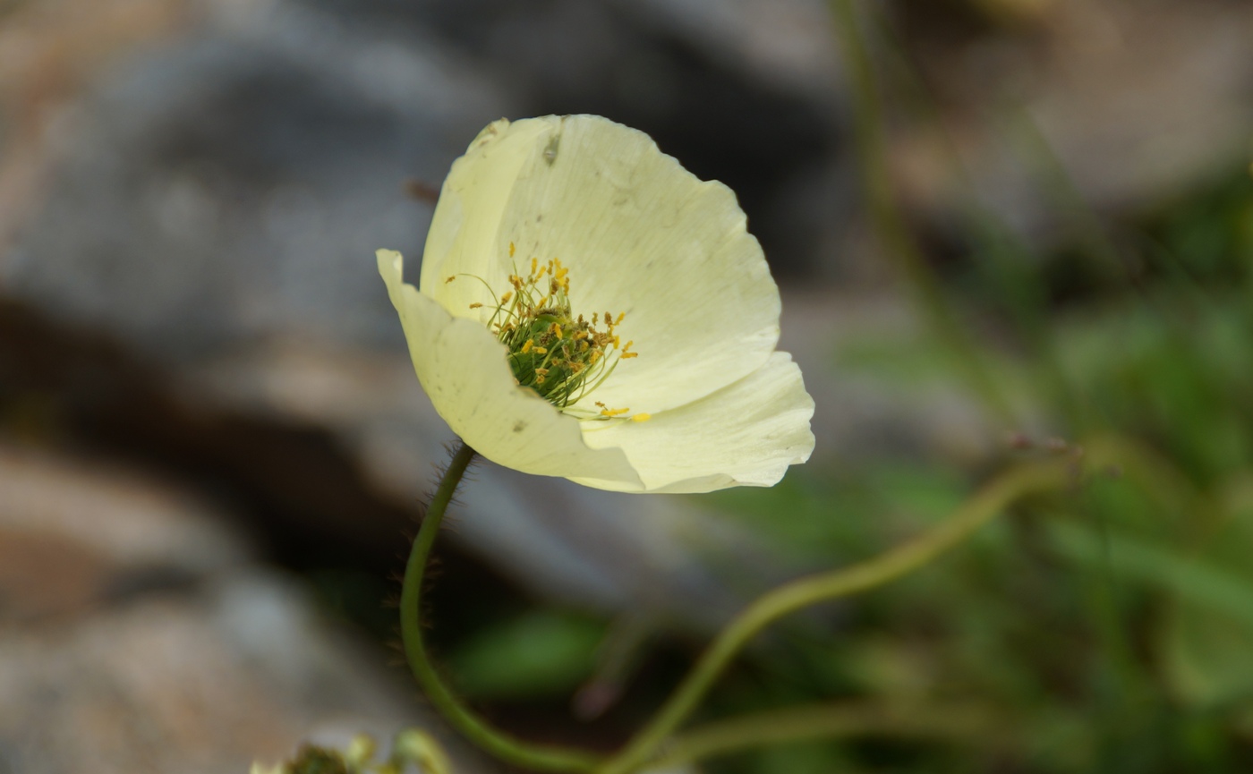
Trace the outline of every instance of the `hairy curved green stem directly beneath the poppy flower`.
<instances>
[{"instance_id":1,"label":"hairy curved green stem directly beneath the poppy flower","mask_svg":"<svg viewBox=\"0 0 1253 774\"><path fill-rule=\"evenodd\" d=\"M515 739L504 731L491 728L482 718L475 715L445 685L422 642L422 627L419 621L422 597L422 576L426 572L426 560L435 545L444 513L452 500L452 493L461 482L466 467L474 460L475 451L461 443L452 455L449 468L444 472L435 496L426 508L422 526L413 540L413 550L405 567L405 585L400 597L400 627L405 641L405 656L408 659L413 678L426 693L435 709L464 736L477 744L496 758L536 771L590 771L599 758L583 750L568 748L531 745Z\"/></svg>"}]
</instances>

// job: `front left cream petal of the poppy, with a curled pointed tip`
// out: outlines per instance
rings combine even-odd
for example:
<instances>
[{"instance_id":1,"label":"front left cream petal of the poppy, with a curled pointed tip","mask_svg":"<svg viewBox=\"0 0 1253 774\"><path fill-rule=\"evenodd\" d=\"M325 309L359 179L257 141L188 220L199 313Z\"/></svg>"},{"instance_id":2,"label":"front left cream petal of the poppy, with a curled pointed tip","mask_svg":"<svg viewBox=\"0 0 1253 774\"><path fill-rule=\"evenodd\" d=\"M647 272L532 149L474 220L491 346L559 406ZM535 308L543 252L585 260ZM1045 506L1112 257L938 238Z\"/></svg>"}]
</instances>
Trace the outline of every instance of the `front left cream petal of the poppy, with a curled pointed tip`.
<instances>
[{"instance_id":1,"label":"front left cream petal of the poppy, with a curled pointed tip","mask_svg":"<svg viewBox=\"0 0 1253 774\"><path fill-rule=\"evenodd\" d=\"M578 420L517 386L504 347L482 324L450 316L405 283L400 253L378 250L377 258L417 378L452 432L492 462L525 473L642 486L621 450L588 447Z\"/></svg>"}]
</instances>

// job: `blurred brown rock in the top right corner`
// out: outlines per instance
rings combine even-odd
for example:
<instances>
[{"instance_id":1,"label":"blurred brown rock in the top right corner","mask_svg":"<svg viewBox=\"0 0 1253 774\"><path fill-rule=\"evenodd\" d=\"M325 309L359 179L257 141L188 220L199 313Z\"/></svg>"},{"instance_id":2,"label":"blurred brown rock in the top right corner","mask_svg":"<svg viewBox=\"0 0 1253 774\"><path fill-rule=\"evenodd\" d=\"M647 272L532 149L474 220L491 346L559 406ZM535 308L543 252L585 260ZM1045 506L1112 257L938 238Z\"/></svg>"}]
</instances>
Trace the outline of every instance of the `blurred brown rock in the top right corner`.
<instances>
[{"instance_id":1,"label":"blurred brown rock in the top right corner","mask_svg":"<svg viewBox=\"0 0 1253 774\"><path fill-rule=\"evenodd\" d=\"M1001 26L900 6L941 126L916 121L892 158L937 223L962 222L954 150L980 203L1036 243L1068 233L1059 172L1098 210L1134 212L1248 163L1248 4L1051 0Z\"/></svg>"}]
</instances>

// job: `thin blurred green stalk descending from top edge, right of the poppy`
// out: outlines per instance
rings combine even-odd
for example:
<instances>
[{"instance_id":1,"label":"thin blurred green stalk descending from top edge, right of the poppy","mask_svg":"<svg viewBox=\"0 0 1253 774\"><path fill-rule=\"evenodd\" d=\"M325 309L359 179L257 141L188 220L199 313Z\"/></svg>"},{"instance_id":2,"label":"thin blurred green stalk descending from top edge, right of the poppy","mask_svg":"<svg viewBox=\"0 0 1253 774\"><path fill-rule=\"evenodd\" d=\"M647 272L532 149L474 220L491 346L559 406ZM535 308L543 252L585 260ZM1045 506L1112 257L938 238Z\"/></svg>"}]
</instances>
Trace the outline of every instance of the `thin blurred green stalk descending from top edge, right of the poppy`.
<instances>
[{"instance_id":1,"label":"thin blurred green stalk descending from top edge, right of the poppy","mask_svg":"<svg viewBox=\"0 0 1253 774\"><path fill-rule=\"evenodd\" d=\"M997 417L1007 425L1016 425L1012 408L945 299L935 273L910 235L910 229L896 205L887 168L887 149L883 144L886 134L883 106L878 98L870 51L858 30L853 0L831 0L831 13L852 90L853 139L862 165L866 207L870 210L875 235L883 253L895 261L896 269L905 281L927 329L956 358L966 379Z\"/></svg>"}]
</instances>

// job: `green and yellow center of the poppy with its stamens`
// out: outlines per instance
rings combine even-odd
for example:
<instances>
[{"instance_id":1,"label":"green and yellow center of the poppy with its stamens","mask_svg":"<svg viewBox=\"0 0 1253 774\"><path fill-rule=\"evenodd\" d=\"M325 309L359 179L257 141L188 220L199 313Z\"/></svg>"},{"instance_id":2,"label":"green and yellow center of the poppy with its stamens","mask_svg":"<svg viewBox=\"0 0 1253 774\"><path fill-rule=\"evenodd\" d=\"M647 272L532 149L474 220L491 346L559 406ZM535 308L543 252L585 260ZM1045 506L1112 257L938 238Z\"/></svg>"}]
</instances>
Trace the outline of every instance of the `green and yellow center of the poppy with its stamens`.
<instances>
[{"instance_id":1,"label":"green and yellow center of the poppy with its stamens","mask_svg":"<svg viewBox=\"0 0 1253 774\"><path fill-rule=\"evenodd\" d=\"M512 244L509 253L514 254ZM509 348L509 366L517 383L563 411L604 383L618 363L638 357L630 351L633 342L620 344L615 332L624 313L614 317L598 312L590 321L575 316L569 273L558 258L544 264L531 258L530 273L509 276L511 291L499 297L492 292L496 308L487 321L487 328ZM600 402L596 407L599 411L580 413L608 420L630 411ZM638 413L630 418L643 422L649 416Z\"/></svg>"}]
</instances>

